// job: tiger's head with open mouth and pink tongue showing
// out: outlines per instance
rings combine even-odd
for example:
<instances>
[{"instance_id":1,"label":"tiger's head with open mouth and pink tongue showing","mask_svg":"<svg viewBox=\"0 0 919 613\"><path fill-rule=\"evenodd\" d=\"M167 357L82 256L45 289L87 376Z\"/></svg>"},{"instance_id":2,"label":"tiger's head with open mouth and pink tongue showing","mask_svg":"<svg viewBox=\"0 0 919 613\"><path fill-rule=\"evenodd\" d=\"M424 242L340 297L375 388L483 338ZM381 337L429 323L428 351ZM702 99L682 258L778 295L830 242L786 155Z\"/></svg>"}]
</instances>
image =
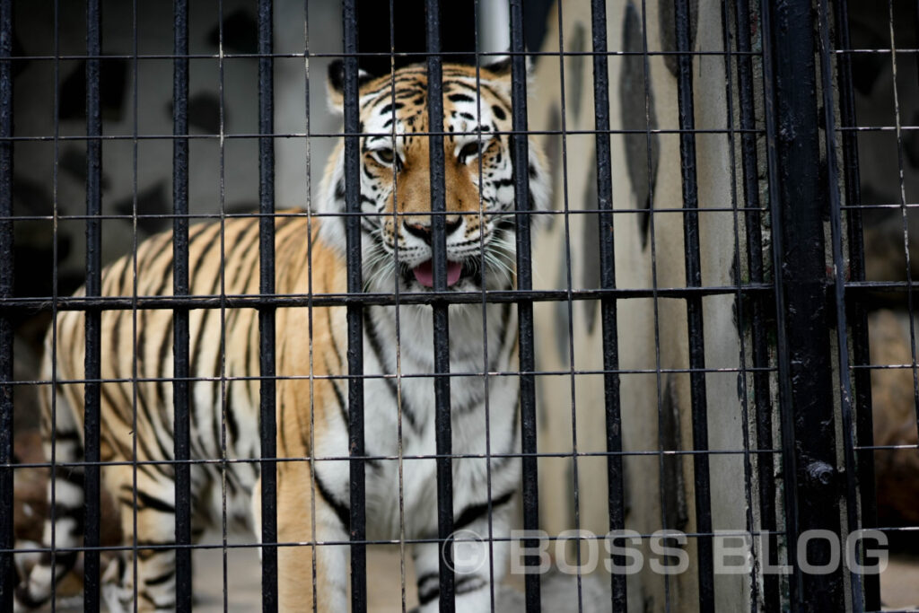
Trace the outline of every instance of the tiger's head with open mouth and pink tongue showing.
<instances>
[{"instance_id":1,"label":"tiger's head with open mouth and pink tongue showing","mask_svg":"<svg viewBox=\"0 0 919 613\"><path fill-rule=\"evenodd\" d=\"M343 108L343 66L329 69L330 103ZM434 285L427 71L417 64L358 79L360 203L364 287L425 291ZM443 65L443 146L448 289L514 285L516 221L511 151L510 62ZM537 144L529 142L529 198L549 203L549 180ZM322 213L345 204L345 147L323 179ZM323 221L325 240L344 247L345 218Z\"/></svg>"}]
</instances>

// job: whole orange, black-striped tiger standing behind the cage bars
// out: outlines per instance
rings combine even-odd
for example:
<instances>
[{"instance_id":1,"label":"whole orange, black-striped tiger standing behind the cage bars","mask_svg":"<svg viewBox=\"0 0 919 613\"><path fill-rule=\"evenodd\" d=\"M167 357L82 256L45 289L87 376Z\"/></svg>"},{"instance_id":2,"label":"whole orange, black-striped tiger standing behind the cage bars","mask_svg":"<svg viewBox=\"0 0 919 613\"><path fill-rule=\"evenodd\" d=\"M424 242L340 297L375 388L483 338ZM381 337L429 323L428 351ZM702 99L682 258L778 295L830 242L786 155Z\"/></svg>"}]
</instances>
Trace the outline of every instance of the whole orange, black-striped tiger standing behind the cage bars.
<instances>
[{"instance_id":1,"label":"whole orange, black-striped tiger standing behind the cage bars","mask_svg":"<svg viewBox=\"0 0 919 613\"><path fill-rule=\"evenodd\" d=\"M329 101L339 115L343 74L342 62L334 62ZM510 74L507 59L478 68L442 65L450 292L516 287ZM362 288L370 293L434 291L427 79L423 64L375 77L359 74L361 273ZM550 194L544 156L532 140L528 152L529 206L545 209ZM289 210L273 221L277 294L346 293L345 199L345 148L339 142L312 214ZM192 224L190 294L257 295L258 244L254 217ZM153 235L136 255L104 269L102 294L172 295L173 257L173 233ZM432 307L368 304L362 319L367 538L420 541L412 552L416 588L420 610L429 613L437 610L441 557L435 542ZM191 459L227 460L191 465L193 540L221 527L224 489L228 528L260 539L260 462L245 461L260 458L257 310L226 308L221 315L220 309L196 309L188 320ZM84 379L85 313L60 312L53 325L41 373L53 381L44 386L40 406L44 450L49 458L53 450L57 462L78 463L84 457L84 385L68 381ZM176 542L176 477L169 463L173 330L169 309L101 314L102 486L117 501L123 544L137 544L117 551L103 573L102 594L111 611L176 606L176 551L168 547ZM459 611L482 611L490 608L493 586L505 574L520 481L519 391L516 378L507 375L517 369L516 306L450 304L448 330L452 453L459 456L451 466L453 525L483 538L454 545L471 548L455 562L455 602ZM345 306L276 311L278 542L301 543L278 547L281 610L347 608L347 331ZM53 565L45 554L24 573L16 591L19 610L48 600L52 585L76 561L66 548L82 546L84 471L58 466L52 478L54 540L47 518L43 547L65 551L53 557ZM144 549L148 544L162 546ZM491 556L491 563L462 567L462 560L477 556Z\"/></svg>"}]
</instances>

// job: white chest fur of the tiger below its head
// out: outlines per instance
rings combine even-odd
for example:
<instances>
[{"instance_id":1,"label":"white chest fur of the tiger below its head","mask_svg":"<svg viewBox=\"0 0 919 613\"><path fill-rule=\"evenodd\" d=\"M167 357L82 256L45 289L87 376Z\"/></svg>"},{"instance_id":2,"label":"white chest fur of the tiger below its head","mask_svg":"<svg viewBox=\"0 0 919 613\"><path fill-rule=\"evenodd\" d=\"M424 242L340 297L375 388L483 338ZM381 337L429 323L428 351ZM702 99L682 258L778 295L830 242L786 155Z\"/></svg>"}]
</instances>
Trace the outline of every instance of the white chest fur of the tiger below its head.
<instances>
[{"instance_id":1,"label":"white chest fur of the tiger below its head","mask_svg":"<svg viewBox=\"0 0 919 613\"><path fill-rule=\"evenodd\" d=\"M392 307L373 307L365 317L365 449L368 456L386 457L366 467L368 537L398 539L404 523L408 538L429 538L437 534L432 313L429 307L400 309L399 369L394 315ZM489 305L485 316L487 339L482 305L452 307L449 318L451 453L460 456L452 460L454 517L513 490L518 478L517 460L508 457L518 447L516 377L482 374L516 369L516 317L502 304ZM384 374L398 376L380 378ZM339 425L317 441L317 457L347 455L344 419ZM317 463L316 475L337 500L348 501L348 471L346 461L325 461Z\"/></svg>"}]
</instances>

